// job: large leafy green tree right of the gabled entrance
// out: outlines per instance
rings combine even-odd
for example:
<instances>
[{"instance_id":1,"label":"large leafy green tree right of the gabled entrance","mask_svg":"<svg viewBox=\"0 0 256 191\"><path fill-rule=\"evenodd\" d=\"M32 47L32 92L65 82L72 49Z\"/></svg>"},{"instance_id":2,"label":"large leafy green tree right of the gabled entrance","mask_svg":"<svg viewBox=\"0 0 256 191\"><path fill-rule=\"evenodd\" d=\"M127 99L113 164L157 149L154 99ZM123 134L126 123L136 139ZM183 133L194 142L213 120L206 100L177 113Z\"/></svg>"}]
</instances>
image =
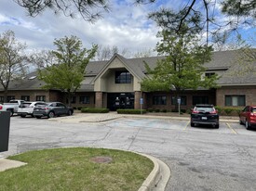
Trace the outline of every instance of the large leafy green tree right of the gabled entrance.
<instances>
[{"instance_id":1,"label":"large leafy green tree right of the gabled entrance","mask_svg":"<svg viewBox=\"0 0 256 191\"><path fill-rule=\"evenodd\" d=\"M157 61L154 69L145 65L150 77L143 79L142 91L175 90L177 97L185 89L216 86L216 75L202 80L203 64L210 60L211 47L199 45L198 37L186 32L185 28L180 33L168 30L158 33L162 39L157 43L156 50L165 57Z\"/></svg>"}]
</instances>

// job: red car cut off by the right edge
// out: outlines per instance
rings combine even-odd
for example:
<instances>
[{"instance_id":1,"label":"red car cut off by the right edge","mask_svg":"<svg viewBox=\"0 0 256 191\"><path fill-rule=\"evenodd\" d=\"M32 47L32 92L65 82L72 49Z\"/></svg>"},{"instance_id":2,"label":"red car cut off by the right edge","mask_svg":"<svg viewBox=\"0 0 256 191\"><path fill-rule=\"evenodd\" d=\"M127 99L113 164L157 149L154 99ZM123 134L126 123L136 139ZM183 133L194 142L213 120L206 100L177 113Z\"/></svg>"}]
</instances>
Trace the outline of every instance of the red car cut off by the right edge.
<instances>
[{"instance_id":1,"label":"red car cut off by the right edge","mask_svg":"<svg viewBox=\"0 0 256 191\"><path fill-rule=\"evenodd\" d=\"M249 130L251 126L256 125L256 106L247 106L239 114L240 124L245 124Z\"/></svg>"}]
</instances>

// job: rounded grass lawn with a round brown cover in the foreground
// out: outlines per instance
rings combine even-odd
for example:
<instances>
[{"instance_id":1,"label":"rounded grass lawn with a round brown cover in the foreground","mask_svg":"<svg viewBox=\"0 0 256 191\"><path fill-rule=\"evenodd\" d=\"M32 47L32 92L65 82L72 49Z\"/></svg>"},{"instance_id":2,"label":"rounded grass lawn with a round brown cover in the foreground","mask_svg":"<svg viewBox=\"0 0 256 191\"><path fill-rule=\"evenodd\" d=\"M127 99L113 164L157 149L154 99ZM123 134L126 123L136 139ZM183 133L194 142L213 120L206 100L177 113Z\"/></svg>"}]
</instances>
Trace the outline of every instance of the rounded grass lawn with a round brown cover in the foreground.
<instances>
[{"instance_id":1,"label":"rounded grass lawn with a round brown cover in the foreground","mask_svg":"<svg viewBox=\"0 0 256 191\"><path fill-rule=\"evenodd\" d=\"M1 191L134 191L154 168L141 155L103 148L37 150L8 159L28 164L0 172Z\"/></svg>"}]
</instances>

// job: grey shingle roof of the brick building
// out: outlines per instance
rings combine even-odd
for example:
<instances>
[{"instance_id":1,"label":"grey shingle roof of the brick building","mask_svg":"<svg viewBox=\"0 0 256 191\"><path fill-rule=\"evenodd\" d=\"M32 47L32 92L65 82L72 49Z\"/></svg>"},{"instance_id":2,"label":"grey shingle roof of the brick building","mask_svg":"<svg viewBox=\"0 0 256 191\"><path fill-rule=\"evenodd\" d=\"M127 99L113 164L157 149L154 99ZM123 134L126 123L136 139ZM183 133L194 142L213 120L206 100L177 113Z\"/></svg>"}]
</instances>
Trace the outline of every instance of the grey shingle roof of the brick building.
<instances>
[{"instance_id":1,"label":"grey shingle roof of the brick building","mask_svg":"<svg viewBox=\"0 0 256 191\"><path fill-rule=\"evenodd\" d=\"M118 54L115 54L114 57L119 57L124 63L128 70L131 70L136 77L143 79L145 74L144 62L146 62L151 68L156 66L158 59L163 57L140 57L140 58L126 58ZM244 73L243 75L232 75L232 72L235 73L236 70L240 70L236 65L236 60L238 59L239 54L237 51L222 51L214 52L212 54L212 59L205 64L207 70L226 70L221 79L218 81L220 85L233 85L233 84L256 84L256 75L251 73ZM112 60L112 59L111 59ZM87 72L85 77L90 76L95 78L103 71L105 67L111 62L111 60L106 61L91 61L88 63ZM256 63L254 63L256 66ZM9 90L39 90L41 86L45 83L39 81L37 78L34 78L37 73L36 71L28 74L26 78L20 80L19 82L12 82L9 84ZM1 88L3 90L3 88ZM89 92L94 90L93 81L90 83L83 83L79 92Z\"/></svg>"}]
</instances>

